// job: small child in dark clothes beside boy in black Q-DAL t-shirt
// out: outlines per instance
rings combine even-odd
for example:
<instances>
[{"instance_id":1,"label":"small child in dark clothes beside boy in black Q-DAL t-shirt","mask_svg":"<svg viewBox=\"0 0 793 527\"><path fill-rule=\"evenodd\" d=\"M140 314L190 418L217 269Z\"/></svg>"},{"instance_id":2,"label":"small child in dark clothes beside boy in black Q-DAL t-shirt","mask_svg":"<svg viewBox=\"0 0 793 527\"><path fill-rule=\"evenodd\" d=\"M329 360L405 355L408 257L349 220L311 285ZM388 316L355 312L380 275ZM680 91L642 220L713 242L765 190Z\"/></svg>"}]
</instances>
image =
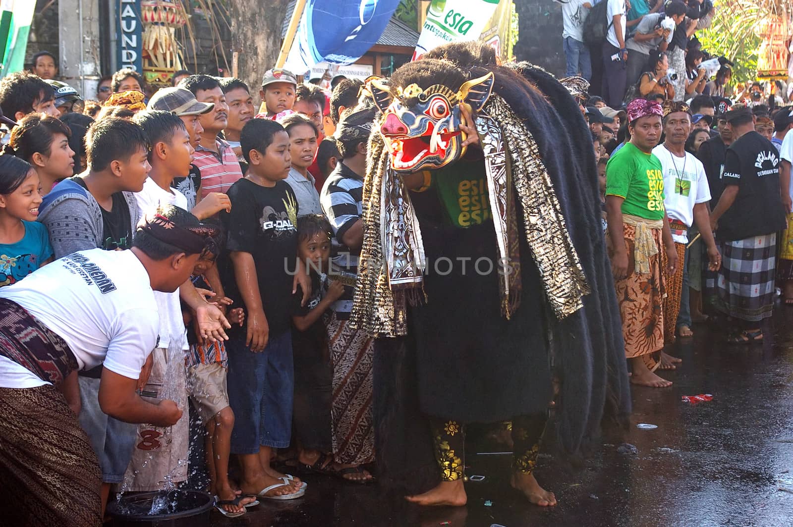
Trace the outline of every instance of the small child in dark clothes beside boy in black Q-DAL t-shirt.
<instances>
[{"instance_id":1,"label":"small child in dark clothes beside boy in black Q-DAL t-shirt","mask_svg":"<svg viewBox=\"0 0 793 527\"><path fill-rule=\"evenodd\" d=\"M309 471L337 473L332 464L331 392L333 367L328 353L323 315L344 294L340 281L328 283L333 227L320 214L297 220L297 257L311 277L311 297L305 307L297 295L292 315L295 365L294 428L300 444L298 461Z\"/></svg>"}]
</instances>

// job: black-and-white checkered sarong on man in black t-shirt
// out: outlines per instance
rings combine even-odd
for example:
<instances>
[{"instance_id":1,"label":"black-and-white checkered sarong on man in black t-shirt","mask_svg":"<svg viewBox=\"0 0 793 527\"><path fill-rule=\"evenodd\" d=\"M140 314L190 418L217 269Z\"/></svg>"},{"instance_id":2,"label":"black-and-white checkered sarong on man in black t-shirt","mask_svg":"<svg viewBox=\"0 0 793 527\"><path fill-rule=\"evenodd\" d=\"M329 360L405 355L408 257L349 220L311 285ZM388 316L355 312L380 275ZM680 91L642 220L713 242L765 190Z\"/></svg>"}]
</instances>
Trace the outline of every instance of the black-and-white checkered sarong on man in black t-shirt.
<instances>
[{"instance_id":1,"label":"black-and-white checkered sarong on man in black t-shirt","mask_svg":"<svg viewBox=\"0 0 793 527\"><path fill-rule=\"evenodd\" d=\"M722 268L707 281L712 306L736 319L768 319L774 307L776 233L718 245Z\"/></svg>"}]
</instances>

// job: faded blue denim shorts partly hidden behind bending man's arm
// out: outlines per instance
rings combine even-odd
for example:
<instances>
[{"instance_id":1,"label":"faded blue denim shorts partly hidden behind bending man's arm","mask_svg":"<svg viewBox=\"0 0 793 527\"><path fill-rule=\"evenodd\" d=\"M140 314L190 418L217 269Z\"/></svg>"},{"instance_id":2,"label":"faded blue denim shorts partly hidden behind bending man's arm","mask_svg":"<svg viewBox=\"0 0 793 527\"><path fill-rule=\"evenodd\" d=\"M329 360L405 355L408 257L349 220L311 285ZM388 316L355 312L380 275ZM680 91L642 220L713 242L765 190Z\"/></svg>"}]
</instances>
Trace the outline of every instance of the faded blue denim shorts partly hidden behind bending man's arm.
<instances>
[{"instance_id":1,"label":"faded blue denim shorts partly hidden behind bending man's arm","mask_svg":"<svg viewBox=\"0 0 793 527\"><path fill-rule=\"evenodd\" d=\"M99 459L102 481L121 483L132 460L138 426L119 421L102 411L99 407L99 379L78 376L78 380L82 403L79 422Z\"/></svg>"}]
</instances>

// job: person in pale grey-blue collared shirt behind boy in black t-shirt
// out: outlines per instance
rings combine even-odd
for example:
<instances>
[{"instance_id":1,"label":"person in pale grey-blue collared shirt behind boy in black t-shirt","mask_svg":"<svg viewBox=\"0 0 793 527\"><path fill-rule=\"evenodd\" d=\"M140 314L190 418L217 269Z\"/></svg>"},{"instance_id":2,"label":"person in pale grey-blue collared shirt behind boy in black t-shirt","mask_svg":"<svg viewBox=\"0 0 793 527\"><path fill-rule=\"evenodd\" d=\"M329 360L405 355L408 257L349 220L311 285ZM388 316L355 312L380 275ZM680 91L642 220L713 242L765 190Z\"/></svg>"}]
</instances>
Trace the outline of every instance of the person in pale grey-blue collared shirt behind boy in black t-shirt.
<instances>
[{"instance_id":1,"label":"person in pale grey-blue collared shirt behind boy in black t-shirt","mask_svg":"<svg viewBox=\"0 0 793 527\"><path fill-rule=\"evenodd\" d=\"M308 172L316 157L319 147L317 137L319 128L311 120L299 113L286 117L281 121L282 126L289 134L289 155L292 157L292 168L286 182L295 192L297 197L297 210L300 216L304 214L322 214L320 193L316 191L314 177Z\"/></svg>"}]
</instances>

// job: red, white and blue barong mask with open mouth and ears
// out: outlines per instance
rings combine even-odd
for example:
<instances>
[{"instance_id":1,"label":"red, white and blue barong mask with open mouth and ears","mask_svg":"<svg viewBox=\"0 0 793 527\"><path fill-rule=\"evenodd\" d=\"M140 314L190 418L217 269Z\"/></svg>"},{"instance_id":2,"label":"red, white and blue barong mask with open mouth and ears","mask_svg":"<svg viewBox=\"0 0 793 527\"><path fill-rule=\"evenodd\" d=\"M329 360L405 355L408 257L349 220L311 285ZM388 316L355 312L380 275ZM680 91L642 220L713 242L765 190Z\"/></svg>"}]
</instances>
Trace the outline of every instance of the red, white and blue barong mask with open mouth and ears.
<instances>
[{"instance_id":1,"label":"red, white and blue barong mask with open mouth and ears","mask_svg":"<svg viewBox=\"0 0 793 527\"><path fill-rule=\"evenodd\" d=\"M396 95L379 79L369 82L374 104L383 113L380 133L391 154L391 167L400 173L439 169L465 155L467 135L460 130L462 105L472 113L488 101L493 74L465 82L455 93L436 84L426 90L411 84Z\"/></svg>"}]
</instances>

